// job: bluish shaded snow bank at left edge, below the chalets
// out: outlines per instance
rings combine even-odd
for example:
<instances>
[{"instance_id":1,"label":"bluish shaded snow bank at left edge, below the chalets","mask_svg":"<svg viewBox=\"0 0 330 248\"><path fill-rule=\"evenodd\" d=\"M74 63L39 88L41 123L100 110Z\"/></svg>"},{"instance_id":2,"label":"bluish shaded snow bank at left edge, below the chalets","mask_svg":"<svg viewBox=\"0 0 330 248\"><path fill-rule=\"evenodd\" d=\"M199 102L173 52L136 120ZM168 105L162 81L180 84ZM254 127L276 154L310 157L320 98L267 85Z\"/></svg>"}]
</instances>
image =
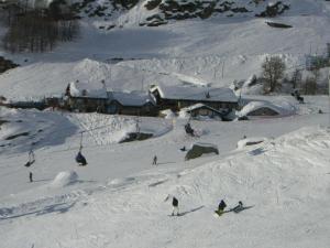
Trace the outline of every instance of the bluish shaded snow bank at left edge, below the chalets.
<instances>
[{"instance_id":1,"label":"bluish shaded snow bank at left edge, below the chalets","mask_svg":"<svg viewBox=\"0 0 330 248\"><path fill-rule=\"evenodd\" d=\"M7 121L0 128L0 153L61 144L75 131L67 118L54 111L0 107L0 120Z\"/></svg>"}]
</instances>

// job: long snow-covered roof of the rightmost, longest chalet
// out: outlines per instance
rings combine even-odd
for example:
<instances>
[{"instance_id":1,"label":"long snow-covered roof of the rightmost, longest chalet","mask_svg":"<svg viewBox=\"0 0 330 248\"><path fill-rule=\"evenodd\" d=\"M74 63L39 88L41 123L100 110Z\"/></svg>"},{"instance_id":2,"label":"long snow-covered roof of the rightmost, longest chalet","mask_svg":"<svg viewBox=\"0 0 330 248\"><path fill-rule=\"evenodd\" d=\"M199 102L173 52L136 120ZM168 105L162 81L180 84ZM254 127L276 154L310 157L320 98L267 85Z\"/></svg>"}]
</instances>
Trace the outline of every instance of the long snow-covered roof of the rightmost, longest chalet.
<instances>
[{"instance_id":1,"label":"long snow-covered roof of the rightmost, longest chalet","mask_svg":"<svg viewBox=\"0 0 330 248\"><path fill-rule=\"evenodd\" d=\"M150 88L151 93L158 91L165 99L227 101L237 103L238 97L230 88L187 87L156 85Z\"/></svg>"}]
</instances>

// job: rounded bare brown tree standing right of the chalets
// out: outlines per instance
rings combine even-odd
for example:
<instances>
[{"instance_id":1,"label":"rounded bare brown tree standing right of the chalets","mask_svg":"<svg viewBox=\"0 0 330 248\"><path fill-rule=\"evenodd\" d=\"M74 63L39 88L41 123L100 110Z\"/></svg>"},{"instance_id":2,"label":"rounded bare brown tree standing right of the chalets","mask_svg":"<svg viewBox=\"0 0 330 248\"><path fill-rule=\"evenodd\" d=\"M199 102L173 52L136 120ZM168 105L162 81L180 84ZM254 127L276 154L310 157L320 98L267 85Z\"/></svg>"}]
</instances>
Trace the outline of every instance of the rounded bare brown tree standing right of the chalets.
<instances>
[{"instance_id":1,"label":"rounded bare brown tree standing right of the chalets","mask_svg":"<svg viewBox=\"0 0 330 248\"><path fill-rule=\"evenodd\" d=\"M265 93L273 93L280 86L279 79L283 78L285 72L285 62L279 56L266 57L262 64L263 77L265 79Z\"/></svg>"}]
</instances>

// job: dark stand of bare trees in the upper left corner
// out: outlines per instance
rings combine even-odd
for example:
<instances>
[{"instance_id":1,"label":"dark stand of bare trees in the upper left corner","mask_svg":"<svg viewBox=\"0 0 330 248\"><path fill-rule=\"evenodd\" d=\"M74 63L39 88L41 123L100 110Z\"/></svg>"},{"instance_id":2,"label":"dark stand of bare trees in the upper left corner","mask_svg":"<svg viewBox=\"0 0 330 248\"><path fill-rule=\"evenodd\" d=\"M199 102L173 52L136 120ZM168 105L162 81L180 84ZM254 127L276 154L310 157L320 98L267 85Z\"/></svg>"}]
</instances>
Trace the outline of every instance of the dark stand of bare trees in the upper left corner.
<instances>
[{"instance_id":1,"label":"dark stand of bare trees in the upper left corner","mask_svg":"<svg viewBox=\"0 0 330 248\"><path fill-rule=\"evenodd\" d=\"M8 26L3 48L11 53L42 53L52 51L58 42L73 41L79 34L79 24L75 14L69 9L63 11L62 6L62 1L53 2L48 9L6 6L0 12L2 24Z\"/></svg>"}]
</instances>

